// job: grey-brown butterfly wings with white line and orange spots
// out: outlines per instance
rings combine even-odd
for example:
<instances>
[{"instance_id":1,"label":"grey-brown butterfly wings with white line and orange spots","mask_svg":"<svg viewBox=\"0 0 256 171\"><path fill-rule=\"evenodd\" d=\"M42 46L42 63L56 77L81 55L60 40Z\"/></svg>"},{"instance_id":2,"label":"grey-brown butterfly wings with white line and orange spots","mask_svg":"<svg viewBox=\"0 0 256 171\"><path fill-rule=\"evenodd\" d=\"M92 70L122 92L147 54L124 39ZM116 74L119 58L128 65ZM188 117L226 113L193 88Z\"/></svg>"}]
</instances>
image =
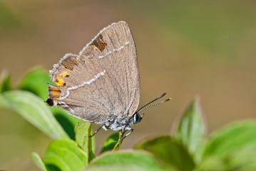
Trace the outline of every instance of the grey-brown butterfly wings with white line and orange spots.
<instances>
[{"instance_id":1,"label":"grey-brown butterfly wings with white line and orange spots","mask_svg":"<svg viewBox=\"0 0 256 171\"><path fill-rule=\"evenodd\" d=\"M140 79L133 36L120 21L98 33L78 54L67 54L53 67L48 103L94 123L133 115Z\"/></svg>"}]
</instances>

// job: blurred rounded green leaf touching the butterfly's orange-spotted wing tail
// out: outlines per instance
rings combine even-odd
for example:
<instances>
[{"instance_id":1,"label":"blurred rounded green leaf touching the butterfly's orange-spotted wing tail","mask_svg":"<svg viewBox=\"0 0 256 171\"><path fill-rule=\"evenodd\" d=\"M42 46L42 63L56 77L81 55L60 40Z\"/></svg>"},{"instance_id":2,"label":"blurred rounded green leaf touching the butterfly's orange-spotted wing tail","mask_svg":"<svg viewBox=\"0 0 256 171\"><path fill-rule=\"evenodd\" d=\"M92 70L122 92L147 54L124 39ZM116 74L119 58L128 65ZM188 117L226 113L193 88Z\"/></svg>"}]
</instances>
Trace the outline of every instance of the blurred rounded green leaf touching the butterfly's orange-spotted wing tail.
<instances>
[{"instance_id":1,"label":"blurred rounded green leaf touching the butterfly's orange-spotted wing tail","mask_svg":"<svg viewBox=\"0 0 256 171\"><path fill-rule=\"evenodd\" d=\"M38 95L41 99L46 100L48 97L47 83L52 83L48 72L41 68L36 68L26 73L19 82L18 88L20 90L28 90Z\"/></svg>"}]
</instances>

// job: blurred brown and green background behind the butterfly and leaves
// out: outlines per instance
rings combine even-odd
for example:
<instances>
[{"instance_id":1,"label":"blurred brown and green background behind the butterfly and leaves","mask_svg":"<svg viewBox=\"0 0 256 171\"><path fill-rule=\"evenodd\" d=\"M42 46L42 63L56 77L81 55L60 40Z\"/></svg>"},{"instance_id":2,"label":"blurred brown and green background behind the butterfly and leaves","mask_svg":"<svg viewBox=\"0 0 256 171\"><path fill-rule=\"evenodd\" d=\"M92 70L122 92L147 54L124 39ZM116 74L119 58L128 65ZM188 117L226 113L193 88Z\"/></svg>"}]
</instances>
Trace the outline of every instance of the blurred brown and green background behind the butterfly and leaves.
<instances>
[{"instance_id":1,"label":"blurred brown and green background behind the butterfly and leaves","mask_svg":"<svg viewBox=\"0 0 256 171\"><path fill-rule=\"evenodd\" d=\"M78 53L98 31L126 21L140 69L140 106L167 92L172 100L145 110L124 142L168 134L173 120L199 94L208 130L256 117L256 1L1 0L0 71L12 82L35 66L46 70ZM37 170L49 142L11 110L0 110L0 169ZM93 125L97 128L98 125ZM96 135L97 149L113 131Z\"/></svg>"}]
</instances>

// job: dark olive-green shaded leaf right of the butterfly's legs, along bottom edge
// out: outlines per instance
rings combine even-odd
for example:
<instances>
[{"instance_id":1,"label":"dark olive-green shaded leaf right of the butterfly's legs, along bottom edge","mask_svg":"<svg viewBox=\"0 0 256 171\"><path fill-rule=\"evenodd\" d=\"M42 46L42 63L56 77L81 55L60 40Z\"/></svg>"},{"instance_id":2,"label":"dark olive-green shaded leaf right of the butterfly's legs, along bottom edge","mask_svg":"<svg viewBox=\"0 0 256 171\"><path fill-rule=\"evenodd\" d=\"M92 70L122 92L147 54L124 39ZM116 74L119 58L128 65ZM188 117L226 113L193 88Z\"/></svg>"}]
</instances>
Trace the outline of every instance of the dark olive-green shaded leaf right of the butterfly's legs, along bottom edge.
<instances>
[{"instance_id":1,"label":"dark olive-green shaded leaf right of the butterfly's legs, along bottom edge","mask_svg":"<svg viewBox=\"0 0 256 171\"><path fill-rule=\"evenodd\" d=\"M170 138L169 135L145 140L135 148L152 152L165 165L175 167L177 170L189 171L195 167L193 159L183 145Z\"/></svg>"}]
</instances>

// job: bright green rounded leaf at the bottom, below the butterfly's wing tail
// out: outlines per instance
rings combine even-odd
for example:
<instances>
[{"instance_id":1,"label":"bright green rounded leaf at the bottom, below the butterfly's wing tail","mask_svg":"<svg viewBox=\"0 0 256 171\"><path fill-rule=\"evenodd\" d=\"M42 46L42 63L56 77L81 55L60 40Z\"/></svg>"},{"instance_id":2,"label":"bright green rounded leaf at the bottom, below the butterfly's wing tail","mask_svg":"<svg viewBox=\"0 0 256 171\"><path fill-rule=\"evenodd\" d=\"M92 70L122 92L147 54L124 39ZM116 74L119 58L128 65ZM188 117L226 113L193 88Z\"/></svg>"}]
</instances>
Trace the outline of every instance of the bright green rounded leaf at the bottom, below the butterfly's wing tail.
<instances>
[{"instance_id":1,"label":"bright green rounded leaf at the bottom, below the butterfly's wing tail","mask_svg":"<svg viewBox=\"0 0 256 171\"><path fill-rule=\"evenodd\" d=\"M50 170L76 171L87 165L87 155L73 140L54 140L48 145L43 162Z\"/></svg>"}]
</instances>

